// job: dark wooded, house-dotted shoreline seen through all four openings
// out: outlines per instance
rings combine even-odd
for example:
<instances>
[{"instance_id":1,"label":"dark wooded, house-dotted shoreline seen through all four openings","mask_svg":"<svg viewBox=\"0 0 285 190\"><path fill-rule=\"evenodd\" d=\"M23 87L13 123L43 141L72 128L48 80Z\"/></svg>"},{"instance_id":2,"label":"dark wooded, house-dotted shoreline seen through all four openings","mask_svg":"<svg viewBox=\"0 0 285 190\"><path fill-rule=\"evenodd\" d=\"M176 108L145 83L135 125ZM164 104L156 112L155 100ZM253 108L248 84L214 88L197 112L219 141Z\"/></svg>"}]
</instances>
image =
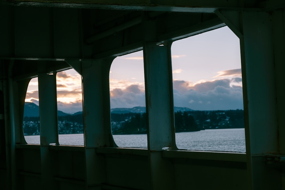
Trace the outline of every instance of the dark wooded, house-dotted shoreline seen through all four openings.
<instances>
[{"instance_id":1,"label":"dark wooded, house-dotted shoreline seen through all four openings","mask_svg":"<svg viewBox=\"0 0 285 190\"><path fill-rule=\"evenodd\" d=\"M174 113L175 132L216 128L244 128L243 110L178 111ZM39 117L25 117L24 134L39 134ZM146 134L146 113L111 113L113 134ZM59 134L83 133L83 115L58 117Z\"/></svg>"}]
</instances>

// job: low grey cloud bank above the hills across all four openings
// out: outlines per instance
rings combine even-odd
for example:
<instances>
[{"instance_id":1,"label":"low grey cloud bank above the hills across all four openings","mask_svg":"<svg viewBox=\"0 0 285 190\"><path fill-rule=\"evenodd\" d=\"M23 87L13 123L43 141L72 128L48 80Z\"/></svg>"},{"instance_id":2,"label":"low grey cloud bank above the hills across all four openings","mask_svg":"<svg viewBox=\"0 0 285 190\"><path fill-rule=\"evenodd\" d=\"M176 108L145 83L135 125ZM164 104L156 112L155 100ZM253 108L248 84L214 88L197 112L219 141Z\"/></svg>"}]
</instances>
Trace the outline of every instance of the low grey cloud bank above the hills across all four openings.
<instances>
[{"instance_id":1,"label":"low grey cloud bank above the hills across all four openings","mask_svg":"<svg viewBox=\"0 0 285 190\"><path fill-rule=\"evenodd\" d=\"M174 105L189 107L194 110L228 110L243 109L243 89L241 86L230 85L241 78L207 81L189 86L188 81L173 81ZM58 91L59 97L81 94L81 91ZM139 85L130 85L126 89L110 91L111 108L145 106L144 90ZM38 99L38 91L27 93L27 98ZM38 104L38 101L32 102ZM82 111L82 100L71 103L58 102L58 110L66 113Z\"/></svg>"}]
</instances>

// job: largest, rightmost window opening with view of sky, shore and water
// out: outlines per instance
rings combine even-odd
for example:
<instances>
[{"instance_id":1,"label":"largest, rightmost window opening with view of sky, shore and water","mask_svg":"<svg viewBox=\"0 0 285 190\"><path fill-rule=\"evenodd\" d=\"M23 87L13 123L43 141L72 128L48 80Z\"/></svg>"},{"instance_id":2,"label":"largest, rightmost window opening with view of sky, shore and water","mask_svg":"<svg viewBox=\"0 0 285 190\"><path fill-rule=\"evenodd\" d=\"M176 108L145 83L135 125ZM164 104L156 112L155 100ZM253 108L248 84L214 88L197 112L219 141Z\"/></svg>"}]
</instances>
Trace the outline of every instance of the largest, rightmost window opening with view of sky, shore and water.
<instances>
[{"instance_id":1,"label":"largest, rightmost window opening with view of sky, shore and water","mask_svg":"<svg viewBox=\"0 0 285 190\"><path fill-rule=\"evenodd\" d=\"M239 38L225 26L171 51L177 147L245 152Z\"/></svg>"}]
</instances>

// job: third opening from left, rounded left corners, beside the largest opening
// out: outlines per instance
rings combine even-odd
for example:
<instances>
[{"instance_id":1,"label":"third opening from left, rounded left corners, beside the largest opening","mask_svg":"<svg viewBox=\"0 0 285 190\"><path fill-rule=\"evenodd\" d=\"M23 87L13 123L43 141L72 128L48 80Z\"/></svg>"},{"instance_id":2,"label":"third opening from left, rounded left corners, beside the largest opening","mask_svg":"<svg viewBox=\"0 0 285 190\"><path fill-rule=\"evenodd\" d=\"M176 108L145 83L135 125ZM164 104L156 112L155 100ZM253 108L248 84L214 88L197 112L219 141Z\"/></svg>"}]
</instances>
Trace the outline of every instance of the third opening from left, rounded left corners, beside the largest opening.
<instances>
[{"instance_id":1,"label":"third opening from left, rounded left corners, beside the largest opening","mask_svg":"<svg viewBox=\"0 0 285 190\"><path fill-rule=\"evenodd\" d=\"M143 51L115 58L109 81L115 143L147 148Z\"/></svg>"}]
</instances>

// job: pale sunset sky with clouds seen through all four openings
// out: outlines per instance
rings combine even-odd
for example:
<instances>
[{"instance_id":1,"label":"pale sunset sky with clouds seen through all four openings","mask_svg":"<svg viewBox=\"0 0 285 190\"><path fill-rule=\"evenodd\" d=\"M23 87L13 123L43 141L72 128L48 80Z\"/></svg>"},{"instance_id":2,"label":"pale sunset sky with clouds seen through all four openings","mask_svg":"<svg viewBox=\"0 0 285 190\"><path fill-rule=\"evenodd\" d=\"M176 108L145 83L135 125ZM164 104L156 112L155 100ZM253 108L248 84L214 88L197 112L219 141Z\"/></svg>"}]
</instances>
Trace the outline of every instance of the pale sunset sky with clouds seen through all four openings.
<instances>
[{"instance_id":1,"label":"pale sunset sky with clouds seen through all four openings","mask_svg":"<svg viewBox=\"0 0 285 190\"><path fill-rule=\"evenodd\" d=\"M174 106L194 110L243 109L239 38L227 27L172 43ZM57 73L58 110L82 111L81 76ZM111 108L145 106L143 52L115 58L110 69ZM26 101L38 105L37 79Z\"/></svg>"}]
</instances>

